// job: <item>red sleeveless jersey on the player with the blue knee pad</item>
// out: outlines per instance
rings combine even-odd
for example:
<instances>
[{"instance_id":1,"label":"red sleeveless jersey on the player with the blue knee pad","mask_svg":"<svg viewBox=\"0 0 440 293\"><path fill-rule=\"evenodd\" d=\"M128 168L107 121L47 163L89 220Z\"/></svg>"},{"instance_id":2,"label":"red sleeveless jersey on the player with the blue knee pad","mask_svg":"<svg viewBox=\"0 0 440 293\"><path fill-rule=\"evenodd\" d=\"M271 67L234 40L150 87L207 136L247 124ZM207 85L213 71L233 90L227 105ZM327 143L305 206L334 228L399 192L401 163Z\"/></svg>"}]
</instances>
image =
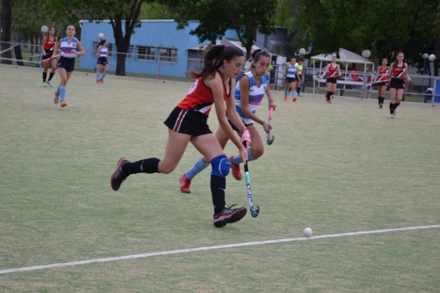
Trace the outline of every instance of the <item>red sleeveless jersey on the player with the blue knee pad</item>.
<instances>
[{"instance_id":1,"label":"red sleeveless jersey on the player with the blue knee pad","mask_svg":"<svg viewBox=\"0 0 440 293\"><path fill-rule=\"evenodd\" d=\"M221 79L223 79L222 76ZM231 84L229 84L229 87L230 86ZM226 94L226 86L223 83L223 100L226 101L227 98L228 96ZM209 116L209 111L211 111L213 103L214 95L212 94L212 90L207 87L205 83L203 83L203 77L199 77L197 81L191 86L185 99L177 104L177 107L184 110L193 109L195 111L205 114L206 116Z\"/></svg>"}]
</instances>

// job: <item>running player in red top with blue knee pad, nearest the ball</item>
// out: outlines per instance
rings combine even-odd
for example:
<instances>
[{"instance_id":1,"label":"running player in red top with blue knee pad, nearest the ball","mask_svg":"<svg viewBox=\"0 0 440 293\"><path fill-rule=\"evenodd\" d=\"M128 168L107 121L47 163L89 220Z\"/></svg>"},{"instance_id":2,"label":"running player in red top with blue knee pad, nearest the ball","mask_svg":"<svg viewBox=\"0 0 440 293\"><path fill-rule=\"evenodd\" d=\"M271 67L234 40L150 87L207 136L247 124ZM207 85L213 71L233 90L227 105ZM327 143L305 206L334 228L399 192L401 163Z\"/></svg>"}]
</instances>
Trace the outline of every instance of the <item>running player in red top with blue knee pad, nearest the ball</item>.
<instances>
[{"instance_id":1,"label":"running player in red top with blue knee pad, nearest the ball","mask_svg":"<svg viewBox=\"0 0 440 293\"><path fill-rule=\"evenodd\" d=\"M235 86L235 78L242 71L244 57L241 49L224 45L208 47L203 52L203 57L204 65L201 72L190 71L191 76L197 78L196 82L185 99L174 108L164 122L169 128L164 158L162 160L149 158L134 163L127 158L121 158L111 174L110 184L113 190L118 190L121 183L131 174L171 173L182 158L188 143L191 142L211 162L214 226L220 228L240 221L247 209L244 207L232 209L234 205L225 207L226 175L231 166L219 141L209 129L207 119L214 104L221 128L240 150L242 159L247 160L247 151L242 142L251 143L249 130L243 125L235 110L234 99L230 97ZM229 118L243 133L241 141L228 123L224 101Z\"/></svg>"}]
</instances>

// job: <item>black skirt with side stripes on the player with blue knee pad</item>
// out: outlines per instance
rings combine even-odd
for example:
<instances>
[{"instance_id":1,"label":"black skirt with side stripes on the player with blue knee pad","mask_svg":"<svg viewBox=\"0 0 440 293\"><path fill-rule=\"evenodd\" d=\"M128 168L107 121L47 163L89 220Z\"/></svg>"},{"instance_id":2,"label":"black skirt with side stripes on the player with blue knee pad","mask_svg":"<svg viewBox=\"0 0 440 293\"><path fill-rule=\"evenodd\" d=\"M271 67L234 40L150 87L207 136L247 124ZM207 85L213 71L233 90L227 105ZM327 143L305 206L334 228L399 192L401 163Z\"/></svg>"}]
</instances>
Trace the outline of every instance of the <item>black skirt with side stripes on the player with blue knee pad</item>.
<instances>
[{"instance_id":1,"label":"black skirt with side stripes on the player with blue knee pad","mask_svg":"<svg viewBox=\"0 0 440 293\"><path fill-rule=\"evenodd\" d=\"M197 136L212 133L207 120L208 116L202 112L176 107L163 123L175 132Z\"/></svg>"}]
</instances>

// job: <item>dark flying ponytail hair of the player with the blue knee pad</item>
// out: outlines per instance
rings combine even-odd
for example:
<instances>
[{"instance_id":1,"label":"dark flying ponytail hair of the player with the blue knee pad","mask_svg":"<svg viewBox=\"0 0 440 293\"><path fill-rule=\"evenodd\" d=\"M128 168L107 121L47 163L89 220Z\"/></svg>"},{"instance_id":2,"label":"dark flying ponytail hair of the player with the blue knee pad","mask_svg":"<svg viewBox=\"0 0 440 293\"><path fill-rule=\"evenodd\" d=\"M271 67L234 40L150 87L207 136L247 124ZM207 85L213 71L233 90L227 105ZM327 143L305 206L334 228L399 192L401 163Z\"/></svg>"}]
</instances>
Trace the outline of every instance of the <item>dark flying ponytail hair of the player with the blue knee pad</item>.
<instances>
[{"instance_id":1,"label":"dark flying ponytail hair of the player with the blue knee pad","mask_svg":"<svg viewBox=\"0 0 440 293\"><path fill-rule=\"evenodd\" d=\"M203 68L200 72L190 69L191 78L214 77L216 69L223 65L223 61L231 61L234 57L244 56L243 51L235 46L210 45L202 53L204 59Z\"/></svg>"}]
</instances>

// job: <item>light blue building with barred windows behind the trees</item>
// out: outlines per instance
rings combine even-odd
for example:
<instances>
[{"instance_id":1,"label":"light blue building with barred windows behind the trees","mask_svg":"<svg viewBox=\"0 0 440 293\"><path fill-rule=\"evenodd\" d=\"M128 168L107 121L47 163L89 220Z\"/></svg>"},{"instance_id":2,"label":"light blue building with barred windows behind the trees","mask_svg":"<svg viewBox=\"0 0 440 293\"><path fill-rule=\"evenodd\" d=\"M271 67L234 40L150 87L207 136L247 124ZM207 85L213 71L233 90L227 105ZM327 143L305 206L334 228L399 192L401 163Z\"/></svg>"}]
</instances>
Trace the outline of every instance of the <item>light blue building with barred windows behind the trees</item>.
<instances>
[{"instance_id":1,"label":"light blue building with barred windows behind the trees","mask_svg":"<svg viewBox=\"0 0 440 293\"><path fill-rule=\"evenodd\" d=\"M177 30L174 20L144 20L132 34L130 48L126 57L126 72L163 76L186 77L190 68L202 66L198 59L198 48L203 45L197 36L190 35L198 21L190 21L182 30ZM81 42L86 56L81 57L80 68L96 68L95 45L103 33L109 42L110 71L116 70L116 46L110 21L80 21ZM124 29L124 25L122 25ZM258 37L257 37L258 39ZM218 43L234 44L241 47L235 31L229 30ZM242 48L242 47L241 47ZM270 48L268 48L270 51ZM242 50L245 53L244 48Z\"/></svg>"}]
</instances>

